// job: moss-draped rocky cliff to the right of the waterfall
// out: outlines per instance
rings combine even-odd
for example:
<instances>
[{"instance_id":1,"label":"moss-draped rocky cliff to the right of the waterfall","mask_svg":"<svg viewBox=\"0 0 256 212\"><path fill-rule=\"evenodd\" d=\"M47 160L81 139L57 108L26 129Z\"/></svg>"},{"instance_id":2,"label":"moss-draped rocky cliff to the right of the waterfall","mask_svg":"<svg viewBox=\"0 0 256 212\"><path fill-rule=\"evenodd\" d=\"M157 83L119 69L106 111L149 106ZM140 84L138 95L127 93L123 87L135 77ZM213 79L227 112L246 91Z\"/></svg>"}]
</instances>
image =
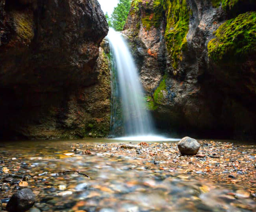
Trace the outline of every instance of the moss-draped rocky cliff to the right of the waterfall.
<instances>
[{"instance_id":1,"label":"moss-draped rocky cliff to the right of the waterfall","mask_svg":"<svg viewBox=\"0 0 256 212\"><path fill-rule=\"evenodd\" d=\"M133 0L129 40L157 127L256 137L254 0Z\"/></svg>"}]
</instances>

